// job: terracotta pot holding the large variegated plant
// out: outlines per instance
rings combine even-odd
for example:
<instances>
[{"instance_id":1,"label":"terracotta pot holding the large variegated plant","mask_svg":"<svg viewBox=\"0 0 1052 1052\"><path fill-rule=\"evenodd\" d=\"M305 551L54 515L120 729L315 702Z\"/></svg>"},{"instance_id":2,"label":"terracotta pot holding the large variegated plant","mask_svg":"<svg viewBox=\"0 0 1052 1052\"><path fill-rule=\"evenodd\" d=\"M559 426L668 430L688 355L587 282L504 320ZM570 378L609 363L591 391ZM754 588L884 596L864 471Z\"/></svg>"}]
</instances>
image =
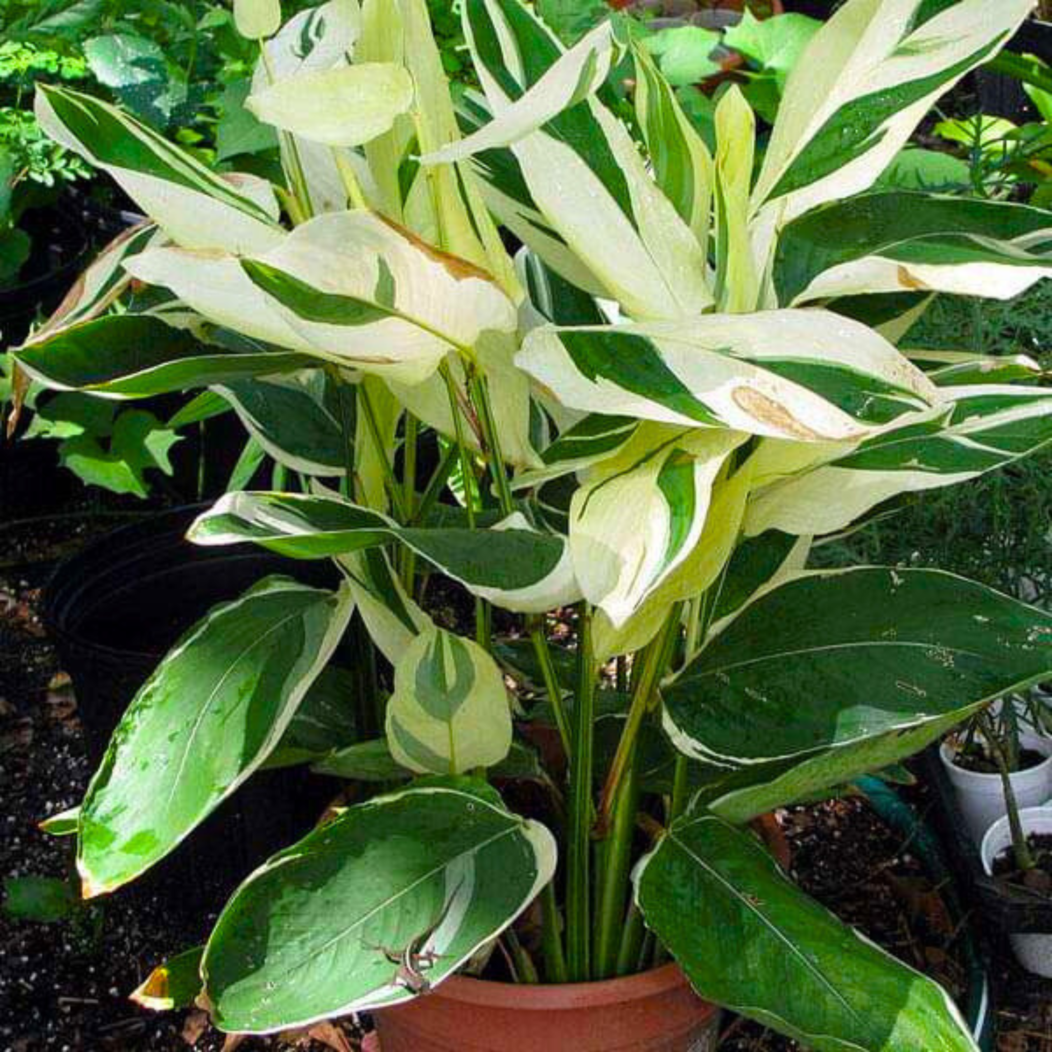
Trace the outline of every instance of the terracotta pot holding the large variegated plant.
<instances>
[{"instance_id":1,"label":"terracotta pot holding the large variegated plant","mask_svg":"<svg viewBox=\"0 0 1052 1052\"><path fill-rule=\"evenodd\" d=\"M712 1052L720 1010L666 965L565 986L454 975L376 1019L381 1052Z\"/></svg>"}]
</instances>

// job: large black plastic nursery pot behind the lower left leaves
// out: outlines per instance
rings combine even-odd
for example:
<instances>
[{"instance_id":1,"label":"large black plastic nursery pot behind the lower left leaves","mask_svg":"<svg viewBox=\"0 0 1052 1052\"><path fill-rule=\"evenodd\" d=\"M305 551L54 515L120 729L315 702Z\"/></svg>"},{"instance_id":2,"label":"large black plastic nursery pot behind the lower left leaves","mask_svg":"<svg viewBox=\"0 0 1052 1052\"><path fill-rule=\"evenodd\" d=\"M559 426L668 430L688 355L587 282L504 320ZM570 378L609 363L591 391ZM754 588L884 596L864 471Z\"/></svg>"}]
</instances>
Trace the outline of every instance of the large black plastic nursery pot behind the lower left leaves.
<instances>
[{"instance_id":1,"label":"large black plastic nursery pot behind the lower left leaves","mask_svg":"<svg viewBox=\"0 0 1052 1052\"><path fill-rule=\"evenodd\" d=\"M61 564L47 585L44 620L73 680L93 769L136 691L213 606L270 573L336 583L327 563L252 546L189 544L184 533L203 507L107 533ZM305 768L257 771L144 881L163 886L166 906L217 905L252 868L307 832L335 792L331 780Z\"/></svg>"}]
</instances>

